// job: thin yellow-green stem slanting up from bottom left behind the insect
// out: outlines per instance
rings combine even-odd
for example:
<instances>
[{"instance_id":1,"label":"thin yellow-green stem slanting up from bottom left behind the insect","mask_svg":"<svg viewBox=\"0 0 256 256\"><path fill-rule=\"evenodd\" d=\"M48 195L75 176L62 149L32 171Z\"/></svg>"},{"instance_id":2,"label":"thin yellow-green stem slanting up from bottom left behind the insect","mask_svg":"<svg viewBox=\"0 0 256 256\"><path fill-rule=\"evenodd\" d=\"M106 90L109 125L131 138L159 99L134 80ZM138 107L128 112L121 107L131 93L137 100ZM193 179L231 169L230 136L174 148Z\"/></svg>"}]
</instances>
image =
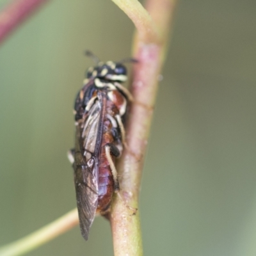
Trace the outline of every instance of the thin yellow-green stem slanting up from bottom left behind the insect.
<instances>
[{"instance_id":1,"label":"thin yellow-green stem slanting up from bottom left behind the insect","mask_svg":"<svg viewBox=\"0 0 256 256\"><path fill-rule=\"evenodd\" d=\"M36 232L29 234L22 239L19 239L13 243L7 244L0 248L1 256L17 256L30 252L38 246L51 241L60 234L67 232L72 227L78 224L77 209L74 209L67 214L63 215L58 220L40 228Z\"/></svg>"}]
</instances>

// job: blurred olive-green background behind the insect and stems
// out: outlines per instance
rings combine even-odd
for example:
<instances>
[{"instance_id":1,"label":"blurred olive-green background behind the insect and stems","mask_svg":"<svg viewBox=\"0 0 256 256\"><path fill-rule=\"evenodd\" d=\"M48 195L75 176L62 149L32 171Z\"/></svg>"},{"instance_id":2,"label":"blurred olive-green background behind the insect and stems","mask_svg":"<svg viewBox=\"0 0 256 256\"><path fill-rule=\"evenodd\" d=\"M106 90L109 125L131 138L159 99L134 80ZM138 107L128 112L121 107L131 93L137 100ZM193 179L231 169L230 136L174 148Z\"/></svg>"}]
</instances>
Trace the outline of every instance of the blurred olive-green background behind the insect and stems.
<instances>
[{"instance_id":1,"label":"blurred olive-green background behind the insect and stems","mask_svg":"<svg viewBox=\"0 0 256 256\"><path fill-rule=\"evenodd\" d=\"M0 1L3 7L9 1ZM145 255L256 255L256 1L180 1L141 186ZM111 1L50 1L0 49L0 244L76 206L66 152L90 49L131 56ZM113 255L109 223L28 255Z\"/></svg>"}]
</instances>

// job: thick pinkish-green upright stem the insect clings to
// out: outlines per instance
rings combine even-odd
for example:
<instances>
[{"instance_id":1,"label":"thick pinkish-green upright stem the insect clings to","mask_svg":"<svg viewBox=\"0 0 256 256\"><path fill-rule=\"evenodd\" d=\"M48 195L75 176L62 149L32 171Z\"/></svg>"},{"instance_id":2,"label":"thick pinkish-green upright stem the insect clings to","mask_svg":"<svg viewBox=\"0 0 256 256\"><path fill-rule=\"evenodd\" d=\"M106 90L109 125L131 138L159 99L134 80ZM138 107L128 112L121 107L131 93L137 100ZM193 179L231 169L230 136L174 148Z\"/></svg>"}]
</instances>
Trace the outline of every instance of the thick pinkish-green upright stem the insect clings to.
<instances>
[{"instance_id":1,"label":"thick pinkish-green upright stem the insect clings to","mask_svg":"<svg viewBox=\"0 0 256 256\"><path fill-rule=\"evenodd\" d=\"M118 164L121 198L116 196L109 220L113 232L115 256L143 255L140 214L132 215L138 208L143 156L145 156L148 134L156 101L159 74L163 66L166 38L175 10L175 0L148 0L147 11L141 11L136 0L113 0L132 19L138 29L134 37L133 82L131 86L134 102L127 125L127 143ZM138 8L138 9L137 9ZM138 12L134 12L134 10ZM148 15L150 13L150 16ZM149 16L149 17L148 17ZM131 152L138 157L134 157ZM138 160L139 159L139 160ZM125 204L124 204L125 201Z\"/></svg>"}]
</instances>

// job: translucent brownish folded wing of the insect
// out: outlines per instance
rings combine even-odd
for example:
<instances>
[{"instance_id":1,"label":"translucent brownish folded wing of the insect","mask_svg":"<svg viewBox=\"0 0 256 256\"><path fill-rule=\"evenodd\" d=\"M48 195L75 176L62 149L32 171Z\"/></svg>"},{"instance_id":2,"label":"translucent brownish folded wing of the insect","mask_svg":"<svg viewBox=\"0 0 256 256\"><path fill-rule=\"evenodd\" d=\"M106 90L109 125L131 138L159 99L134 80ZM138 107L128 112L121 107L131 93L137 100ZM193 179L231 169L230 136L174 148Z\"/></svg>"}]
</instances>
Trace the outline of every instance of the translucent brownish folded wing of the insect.
<instances>
[{"instance_id":1,"label":"translucent brownish folded wing of the insect","mask_svg":"<svg viewBox=\"0 0 256 256\"><path fill-rule=\"evenodd\" d=\"M86 240L98 205L99 162L97 156L99 155L98 141L102 136L101 118L102 102L96 100L86 113L86 118L79 120L76 126L74 182L81 233Z\"/></svg>"}]
</instances>

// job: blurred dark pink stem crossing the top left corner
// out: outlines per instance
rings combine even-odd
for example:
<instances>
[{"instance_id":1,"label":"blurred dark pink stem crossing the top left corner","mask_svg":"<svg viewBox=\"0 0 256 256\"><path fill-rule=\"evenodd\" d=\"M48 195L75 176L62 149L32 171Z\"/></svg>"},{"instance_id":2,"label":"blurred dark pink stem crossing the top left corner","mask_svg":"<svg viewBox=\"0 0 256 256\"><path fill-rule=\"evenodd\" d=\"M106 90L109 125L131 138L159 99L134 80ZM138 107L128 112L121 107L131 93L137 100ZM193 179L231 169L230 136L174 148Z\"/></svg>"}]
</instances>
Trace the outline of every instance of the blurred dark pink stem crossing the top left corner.
<instances>
[{"instance_id":1,"label":"blurred dark pink stem crossing the top left corner","mask_svg":"<svg viewBox=\"0 0 256 256\"><path fill-rule=\"evenodd\" d=\"M48 0L15 0L8 4L0 13L0 44L46 1Z\"/></svg>"}]
</instances>

